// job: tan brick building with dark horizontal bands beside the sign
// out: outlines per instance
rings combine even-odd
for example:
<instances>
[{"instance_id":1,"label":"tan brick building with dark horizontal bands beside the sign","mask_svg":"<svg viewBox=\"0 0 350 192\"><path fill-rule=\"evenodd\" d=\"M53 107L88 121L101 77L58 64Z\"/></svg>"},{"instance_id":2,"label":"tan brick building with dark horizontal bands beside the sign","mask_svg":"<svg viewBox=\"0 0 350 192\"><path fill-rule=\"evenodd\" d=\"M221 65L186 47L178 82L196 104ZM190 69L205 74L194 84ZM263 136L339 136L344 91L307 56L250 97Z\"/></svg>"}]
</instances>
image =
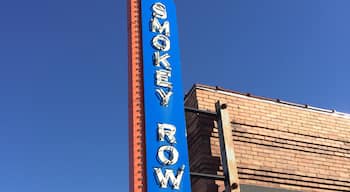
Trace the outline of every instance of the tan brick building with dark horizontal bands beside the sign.
<instances>
[{"instance_id":1,"label":"tan brick building with dark horizontal bands beside the sign","mask_svg":"<svg viewBox=\"0 0 350 192\"><path fill-rule=\"evenodd\" d=\"M218 87L195 85L185 106L227 104L241 192L350 191L350 115ZM218 123L186 113L191 172L223 175ZM191 177L193 192L222 192L222 179Z\"/></svg>"}]
</instances>

